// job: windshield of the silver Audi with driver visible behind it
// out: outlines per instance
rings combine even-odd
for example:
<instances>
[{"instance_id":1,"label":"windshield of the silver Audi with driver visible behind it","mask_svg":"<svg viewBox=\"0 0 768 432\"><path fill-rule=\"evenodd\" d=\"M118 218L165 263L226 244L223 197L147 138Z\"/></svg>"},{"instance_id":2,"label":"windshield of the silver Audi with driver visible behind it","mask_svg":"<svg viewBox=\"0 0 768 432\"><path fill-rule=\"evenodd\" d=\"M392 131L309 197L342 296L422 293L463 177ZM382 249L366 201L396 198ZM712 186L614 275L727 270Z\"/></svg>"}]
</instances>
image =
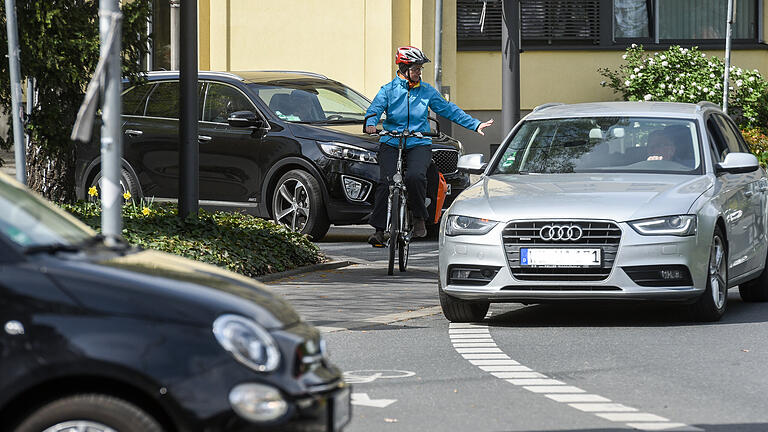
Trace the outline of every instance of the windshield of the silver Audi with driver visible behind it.
<instances>
[{"instance_id":1,"label":"windshield of the silver Audi with driver visible behind it","mask_svg":"<svg viewBox=\"0 0 768 432\"><path fill-rule=\"evenodd\" d=\"M494 174L694 174L701 151L692 120L579 117L525 121Z\"/></svg>"}]
</instances>

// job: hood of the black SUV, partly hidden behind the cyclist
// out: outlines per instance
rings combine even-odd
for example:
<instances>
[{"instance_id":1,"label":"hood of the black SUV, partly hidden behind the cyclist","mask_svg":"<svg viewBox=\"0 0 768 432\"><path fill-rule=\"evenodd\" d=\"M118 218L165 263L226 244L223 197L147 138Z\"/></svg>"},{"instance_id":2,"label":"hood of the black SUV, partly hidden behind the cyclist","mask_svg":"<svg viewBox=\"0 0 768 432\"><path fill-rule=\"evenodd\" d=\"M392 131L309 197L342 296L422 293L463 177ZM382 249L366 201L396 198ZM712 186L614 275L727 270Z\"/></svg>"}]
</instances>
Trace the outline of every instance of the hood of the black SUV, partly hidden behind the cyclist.
<instances>
[{"instance_id":1,"label":"hood of the black SUV, partly hidden behind the cyclist","mask_svg":"<svg viewBox=\"0 0 768 432\"><path fill-rule=\"evenodd\" d=\"M338 141L353 144L366 150L379 150L379 137L362 133L362 123L338 125L291 124L292 132L299 138L317 141ZM432 140L432 148L452 148L462 151L461 143L453 137L441 134Z\"/></svg>"}]
</instances>

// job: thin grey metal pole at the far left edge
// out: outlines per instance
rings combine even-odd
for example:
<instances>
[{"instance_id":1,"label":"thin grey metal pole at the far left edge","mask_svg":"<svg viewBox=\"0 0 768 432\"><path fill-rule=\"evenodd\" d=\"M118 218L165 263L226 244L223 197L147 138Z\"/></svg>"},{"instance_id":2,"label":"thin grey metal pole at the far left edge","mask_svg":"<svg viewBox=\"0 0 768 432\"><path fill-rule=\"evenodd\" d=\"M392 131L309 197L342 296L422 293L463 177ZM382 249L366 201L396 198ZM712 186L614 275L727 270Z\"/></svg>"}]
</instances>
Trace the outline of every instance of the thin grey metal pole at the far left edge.
<instances>
[{"instance_id":1,"label":"thin grey metal pole at the far left edge","mask_svg":"<svg viewBox=\"0 0 768 432\"><path fill-rule=\"evenodd\" d=\"M16 154L16 180L22 184L27 184L27 153L24 146L24 127L21 124L19 32L16 25L14 0L5 0L5 15L8 31L8 66L11 72L11 116L13 116L13 146Z\"/></svg>"}]
</instances>

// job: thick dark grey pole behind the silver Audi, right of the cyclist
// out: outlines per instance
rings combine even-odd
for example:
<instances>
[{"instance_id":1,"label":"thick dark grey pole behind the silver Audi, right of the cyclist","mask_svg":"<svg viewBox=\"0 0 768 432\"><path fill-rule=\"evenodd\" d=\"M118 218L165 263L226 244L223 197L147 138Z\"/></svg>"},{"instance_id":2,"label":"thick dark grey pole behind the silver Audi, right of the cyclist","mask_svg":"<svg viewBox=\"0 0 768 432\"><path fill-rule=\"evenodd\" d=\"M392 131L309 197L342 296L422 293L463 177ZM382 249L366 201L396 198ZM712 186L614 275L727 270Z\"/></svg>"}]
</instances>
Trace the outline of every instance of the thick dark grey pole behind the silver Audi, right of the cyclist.
<instances>
[{"instance_id":1,"label":"thick dark grey pole behind the silver Audi, right of the cyclist","mask_svg":"<svg viewBox=\"0 0 768 432\"><path fill-rule=\"evenodd\" d=\"M504 0L501 26L501 136L520 120L520 1Z\"/></svg>"}]
</instances>

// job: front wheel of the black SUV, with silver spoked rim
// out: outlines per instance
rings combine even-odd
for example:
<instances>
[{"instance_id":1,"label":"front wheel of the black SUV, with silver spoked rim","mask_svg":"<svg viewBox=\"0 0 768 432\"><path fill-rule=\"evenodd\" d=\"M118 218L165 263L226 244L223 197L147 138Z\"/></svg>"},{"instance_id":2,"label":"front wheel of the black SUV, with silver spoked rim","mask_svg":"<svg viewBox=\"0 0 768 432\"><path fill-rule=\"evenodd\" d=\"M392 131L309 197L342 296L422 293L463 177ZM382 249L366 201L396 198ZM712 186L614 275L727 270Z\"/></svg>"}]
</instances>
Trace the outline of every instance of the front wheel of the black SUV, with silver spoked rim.
<instances>
[{"instance_id":1,"label":"front wheel of the black SUV, with silver spoked rim","mask_svg":"<svg viewBox=\"0 0 768 432\"><path fill-rule=\"evenodd\" d=\"M317 179L303 170L291 170L280 177L272 192L272 219L312 240L325 237L331 225Z\"/></svg>"}]
</instances>

